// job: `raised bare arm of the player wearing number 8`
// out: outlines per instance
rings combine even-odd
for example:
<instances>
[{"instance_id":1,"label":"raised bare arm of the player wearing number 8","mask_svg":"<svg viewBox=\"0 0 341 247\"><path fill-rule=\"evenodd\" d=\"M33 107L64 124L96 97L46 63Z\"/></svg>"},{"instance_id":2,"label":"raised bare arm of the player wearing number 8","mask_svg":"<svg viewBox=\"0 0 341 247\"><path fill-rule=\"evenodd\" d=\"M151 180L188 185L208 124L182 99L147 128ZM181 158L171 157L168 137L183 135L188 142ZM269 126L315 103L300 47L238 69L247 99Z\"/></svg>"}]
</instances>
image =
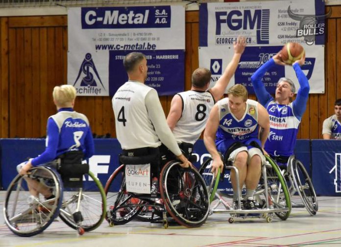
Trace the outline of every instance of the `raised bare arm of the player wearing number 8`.
<instances>
[{"instance_id":1,"label":"raised bare arm of the player wearing number 8","mask_svg":"<svg viewBox=\"0 0 341 247\"><path fill-rule=\"evenodd\" d=\"M239 60L244 52L246 46L245 37L238 37L237 42L234 43L234 55L231 62L227 65L224 73L220 76L217 83L210 89L213 98L217 102L224 94L228 83L236 72Z\"/></svg>"}]
</instances>

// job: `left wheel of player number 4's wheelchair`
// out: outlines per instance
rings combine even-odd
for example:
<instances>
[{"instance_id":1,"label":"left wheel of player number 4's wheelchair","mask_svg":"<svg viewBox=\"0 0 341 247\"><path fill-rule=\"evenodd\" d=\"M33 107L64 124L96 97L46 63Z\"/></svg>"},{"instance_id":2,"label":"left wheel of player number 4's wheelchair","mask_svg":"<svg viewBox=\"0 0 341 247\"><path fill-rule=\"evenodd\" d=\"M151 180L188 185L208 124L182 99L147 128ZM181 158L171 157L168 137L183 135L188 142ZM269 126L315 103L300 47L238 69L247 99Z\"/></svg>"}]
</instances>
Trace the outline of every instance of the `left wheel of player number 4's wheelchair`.
<instances>
[{"instance_id":1,"label":"left wheel of player number 4's wheelchair","mask_svg":"<svg viewBox=\"0 0 341 247\"><path fill-rule=\"evenodd\" d=\"M124 165L121 165L111 174L104 191L107 199L106 220L110 225L130 222L143 209L142 206L135 206L136 204L142 204L142 200L134 198L126 191Z\"/></svg>"}]
</instances>

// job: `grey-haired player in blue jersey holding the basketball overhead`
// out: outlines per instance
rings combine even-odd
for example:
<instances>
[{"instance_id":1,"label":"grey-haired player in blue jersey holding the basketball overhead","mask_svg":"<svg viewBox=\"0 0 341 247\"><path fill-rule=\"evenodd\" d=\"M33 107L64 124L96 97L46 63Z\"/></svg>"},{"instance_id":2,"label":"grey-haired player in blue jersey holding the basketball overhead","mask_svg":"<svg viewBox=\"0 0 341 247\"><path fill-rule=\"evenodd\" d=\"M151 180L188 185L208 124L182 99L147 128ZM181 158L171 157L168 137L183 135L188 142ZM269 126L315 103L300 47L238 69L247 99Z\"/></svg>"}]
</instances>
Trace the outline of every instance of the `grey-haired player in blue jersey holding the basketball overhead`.
<instances>
[{"instance_id":1,"label":"grey-haired player in blue jersey holding the basketball overhead","mask_svg":"<svg viewBox=\"0 0 341 247\"><path fill-rule=\"evenodd\" d=\"M267 109L270 118L270 133L264 149L279 163L287 164L293 154L296 143L297 131L309 96L309 82L300 66L304 64L305 55L292 64L300 88L296 99L295 85L292 80L282 77L277 82L275 98L265 89L262 82L264 74L277 65L285 65L278 52L268 62L263 64L252 76L251 81L258 101Z\"/></svg>"}]
</instances>

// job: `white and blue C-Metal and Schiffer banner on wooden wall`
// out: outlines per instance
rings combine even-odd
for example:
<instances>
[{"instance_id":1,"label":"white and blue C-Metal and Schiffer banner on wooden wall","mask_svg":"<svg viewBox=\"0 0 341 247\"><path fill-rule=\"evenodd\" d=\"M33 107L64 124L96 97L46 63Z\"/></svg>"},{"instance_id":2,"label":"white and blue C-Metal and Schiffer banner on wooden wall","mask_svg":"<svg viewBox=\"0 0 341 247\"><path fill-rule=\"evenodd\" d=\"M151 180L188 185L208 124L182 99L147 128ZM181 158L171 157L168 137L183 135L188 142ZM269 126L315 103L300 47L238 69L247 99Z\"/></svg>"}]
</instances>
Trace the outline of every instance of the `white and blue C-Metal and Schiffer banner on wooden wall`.
<instances>
[{"instance_id":1,"label":"white and blue C-Metal and Schiffer banner on wooden wall","mask_svg":"<svg viewBox=\"0 0 341 247\"><path fill-rule=\"evenodd\" d=\"M127 81L124 56L146 54L146 85L159 95L184 90L183 6L86 7L68 10L68 84L78 96L112 96Z\"/></svg>"}]
</instances>

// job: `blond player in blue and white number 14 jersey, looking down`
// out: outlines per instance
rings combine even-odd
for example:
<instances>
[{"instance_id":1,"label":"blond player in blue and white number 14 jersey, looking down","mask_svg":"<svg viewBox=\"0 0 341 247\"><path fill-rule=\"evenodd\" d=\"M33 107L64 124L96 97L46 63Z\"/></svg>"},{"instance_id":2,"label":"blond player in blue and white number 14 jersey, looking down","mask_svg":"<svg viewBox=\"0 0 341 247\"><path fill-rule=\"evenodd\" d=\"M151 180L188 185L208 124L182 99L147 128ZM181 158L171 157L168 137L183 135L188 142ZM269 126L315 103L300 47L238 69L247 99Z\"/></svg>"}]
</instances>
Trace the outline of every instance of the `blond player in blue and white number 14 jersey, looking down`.
<instances>
[{"instance_id":1,"label":"blond player in blue and white number 14 jersey, looking down","mask_svg":"<svg viewBox=\"0 0 341 247\"><path fill-rule=\"evenodd\" d=\"M265 162L262 148L267 140L270 123L267 110L257 101L247 99L247 90L236 84L227 92L228 98L219 100L211 110L204 132L204 143L213 158L212 173L217 176L223 162L233 163L239 172L239 188L245 183L246 195L241 207L254 209L254 192L261 176L261 165ZM263 128L259 138L259 126ZM234 170L231 171L233 191L237 191ZM241 195L241 192L240 192ZM233 195L234 206L238 207L238 193Z\"/></svg>"}]
</instances>

